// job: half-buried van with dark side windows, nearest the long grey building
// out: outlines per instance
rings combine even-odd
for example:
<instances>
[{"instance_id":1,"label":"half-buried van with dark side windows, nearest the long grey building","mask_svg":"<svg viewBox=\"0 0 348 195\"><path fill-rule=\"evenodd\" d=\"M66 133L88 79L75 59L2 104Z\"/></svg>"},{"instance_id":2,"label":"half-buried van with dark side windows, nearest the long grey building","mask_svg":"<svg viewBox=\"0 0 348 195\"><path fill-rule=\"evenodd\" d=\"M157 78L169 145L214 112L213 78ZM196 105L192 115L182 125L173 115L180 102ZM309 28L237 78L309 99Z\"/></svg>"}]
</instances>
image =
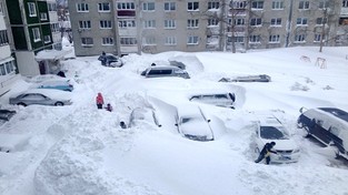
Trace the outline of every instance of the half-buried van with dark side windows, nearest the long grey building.
<instances>
[{"instance_id":1,"label":"half-buried van with dark side windows, nearest the long grey building","mask_svg":"<svg viewBox=\"0 0 348 195\"><path fill-rule=\"evenodd\" d=\"M150 66L141 72L146 78L163 78L163 76L178 76L190 79L190 75L182 69L177 66Z\"/></svg>"}]
</instances>

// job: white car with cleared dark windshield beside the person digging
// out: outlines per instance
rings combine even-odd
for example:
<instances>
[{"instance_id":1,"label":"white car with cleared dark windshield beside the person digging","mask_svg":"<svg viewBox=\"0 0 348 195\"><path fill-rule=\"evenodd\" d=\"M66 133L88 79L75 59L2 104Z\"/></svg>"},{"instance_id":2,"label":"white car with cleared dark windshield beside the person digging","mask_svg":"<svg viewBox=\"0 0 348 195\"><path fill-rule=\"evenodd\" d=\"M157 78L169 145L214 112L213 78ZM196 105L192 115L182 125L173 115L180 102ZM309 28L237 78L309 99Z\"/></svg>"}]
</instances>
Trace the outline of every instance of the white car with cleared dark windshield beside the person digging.
<instances>
[{"instance_id":1,"label":"white car with cleared dark windshield beside the person digging","mask_svg":"<svg viewBox=\"0 0 348 195\"><path fill-rule=\"evenodd\" d=\"M260 153L266 143L276 142L274 151L277 154L270 154L271 163L295 163L300 157L299 146L290 138L287 130L275 116L262 116L257 122L252 137L257 154Z\"/></svg>"}]
</instances>

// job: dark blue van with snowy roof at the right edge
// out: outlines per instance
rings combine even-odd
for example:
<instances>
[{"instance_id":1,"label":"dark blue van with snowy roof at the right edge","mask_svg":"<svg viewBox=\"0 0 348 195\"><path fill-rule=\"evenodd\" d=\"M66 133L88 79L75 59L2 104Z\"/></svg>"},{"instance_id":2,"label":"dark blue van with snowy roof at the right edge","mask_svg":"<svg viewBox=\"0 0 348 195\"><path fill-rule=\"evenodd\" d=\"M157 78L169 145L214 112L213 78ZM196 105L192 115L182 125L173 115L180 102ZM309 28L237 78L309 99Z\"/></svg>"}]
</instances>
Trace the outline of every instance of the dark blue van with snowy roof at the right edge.
<instances>
[{"instance_id":1,"label":"dark blue van with snowy roof at the right edge","mask_svg":"<svg viewBox=\"0 0 348 195\"><path fill-rule=\"evenodd\" d=\"M337 156L348 160L348 113L337 107L302 107L300 112L298 127L324 145L334 146Z\"/></svg>"}]
</instances>

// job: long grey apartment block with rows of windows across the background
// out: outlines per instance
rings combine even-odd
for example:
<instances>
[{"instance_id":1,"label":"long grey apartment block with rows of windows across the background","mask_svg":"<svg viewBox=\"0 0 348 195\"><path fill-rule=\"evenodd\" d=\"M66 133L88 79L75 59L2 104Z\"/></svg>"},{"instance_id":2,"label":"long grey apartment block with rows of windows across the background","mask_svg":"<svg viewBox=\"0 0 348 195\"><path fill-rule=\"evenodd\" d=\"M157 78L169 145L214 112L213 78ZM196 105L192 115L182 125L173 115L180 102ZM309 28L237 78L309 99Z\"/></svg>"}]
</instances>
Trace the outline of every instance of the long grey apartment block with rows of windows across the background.
<instances>
[{"instance_id":1,"label":"long grey apartment block with rows of windows across the background","mask_svg":"<svg viewBox=\"0 0 348 195\"><path fill-rule=\"evenodd\" d=\"M346 8L347 0L69 1L77 55L337 45Z\"/></svg>"}]
</instances>

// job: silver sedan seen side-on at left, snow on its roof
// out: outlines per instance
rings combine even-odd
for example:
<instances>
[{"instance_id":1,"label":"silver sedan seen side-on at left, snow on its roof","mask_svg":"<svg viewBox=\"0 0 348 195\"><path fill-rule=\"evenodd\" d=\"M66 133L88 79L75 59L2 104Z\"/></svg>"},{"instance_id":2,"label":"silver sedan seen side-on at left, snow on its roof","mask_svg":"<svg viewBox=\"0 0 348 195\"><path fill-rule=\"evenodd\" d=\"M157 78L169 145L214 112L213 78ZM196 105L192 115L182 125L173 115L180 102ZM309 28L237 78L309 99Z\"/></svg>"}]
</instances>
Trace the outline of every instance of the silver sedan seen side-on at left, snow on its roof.
<instances>
[{"instance_id":1,"label":"silver sedan seen side-on at left, snow on its roof","mask_svg":"<svg viewBox=\"0 0 348 195\"><path fill-rule=\"evenodd\" d=\"M70 92L51 90L51 89L33 89L19 94L11 95L9 99L10 104L16 105L70 105Z\"/></svg>"}]
</instances>

